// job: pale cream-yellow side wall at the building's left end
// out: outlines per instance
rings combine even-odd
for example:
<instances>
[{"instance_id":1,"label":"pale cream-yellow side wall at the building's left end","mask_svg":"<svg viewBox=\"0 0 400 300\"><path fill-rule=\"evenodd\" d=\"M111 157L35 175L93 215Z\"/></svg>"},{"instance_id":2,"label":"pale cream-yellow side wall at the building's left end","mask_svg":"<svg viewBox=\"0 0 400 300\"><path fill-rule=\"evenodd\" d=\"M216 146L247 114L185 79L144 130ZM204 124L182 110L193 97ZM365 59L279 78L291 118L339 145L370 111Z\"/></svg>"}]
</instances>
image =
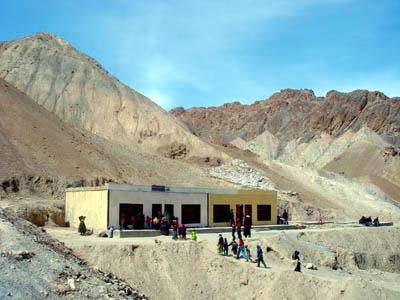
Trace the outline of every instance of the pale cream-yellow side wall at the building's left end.
<instances>
[{"instance_id":1,"label":"pale cream-yellow side wall at the building's left end","mask_svg":"<svg viewBox=\"0 0 400 300\"><path fill-rule=\"evenodd\" d=\"M89 229L105 230L108 217L108 191L66 191L65 221L78 228L79 217L85 216L85 225Z\"/></svg>"}]
</instances>

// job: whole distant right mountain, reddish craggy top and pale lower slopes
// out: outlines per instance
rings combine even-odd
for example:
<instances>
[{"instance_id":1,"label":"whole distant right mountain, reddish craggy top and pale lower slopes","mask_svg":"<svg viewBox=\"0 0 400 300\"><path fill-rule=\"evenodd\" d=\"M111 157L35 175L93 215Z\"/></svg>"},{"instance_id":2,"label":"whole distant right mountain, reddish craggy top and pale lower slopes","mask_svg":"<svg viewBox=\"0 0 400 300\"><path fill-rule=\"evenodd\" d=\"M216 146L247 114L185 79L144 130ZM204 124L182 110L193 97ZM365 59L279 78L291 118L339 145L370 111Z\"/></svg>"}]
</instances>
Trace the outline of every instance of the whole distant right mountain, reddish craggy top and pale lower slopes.
<instances>
[{"instance_id":1,"label":"whole distant right mountain, reddish craggy top and pale lower slopes","mask_svg":"<svg viewBox=\"0 0 400 300\"><path fill-rule=\"evenodd\" d=\"M256 154L274 183L318 207L350 198L361 207L367 194L373 202L400 202L400 98L365 90L316 97L286 89L250 105L171 112L197 136L245 151L244 160ZM340 185L343 197L332 189Z\"/></svg>"}]
</instances>

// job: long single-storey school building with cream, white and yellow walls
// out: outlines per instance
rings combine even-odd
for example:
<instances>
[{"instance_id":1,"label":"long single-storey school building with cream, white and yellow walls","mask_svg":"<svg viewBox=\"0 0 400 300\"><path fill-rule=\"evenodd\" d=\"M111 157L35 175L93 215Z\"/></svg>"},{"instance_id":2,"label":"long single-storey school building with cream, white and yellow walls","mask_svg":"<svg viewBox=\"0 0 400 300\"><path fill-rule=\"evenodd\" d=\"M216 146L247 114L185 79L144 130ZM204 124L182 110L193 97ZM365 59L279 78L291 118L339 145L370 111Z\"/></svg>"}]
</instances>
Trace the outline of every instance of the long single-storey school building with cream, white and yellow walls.
<instances>
[{"instance_id":1,"label":"long single-storey school building with cream, white and yellow walls","mask_svg":"<svg viewBox=\"0 0 400 300\"><path fill-rule=\"evenodd\" d=\"M179 218L187 227L230 226L234 218L250 215L253 225L276 224L277 193L264 190L234 190L139 186L108 183L100 187L66 189L65 221L78 227L86 216L88 228L119 228L138 213L154 218L161 213Z\"/></svg>"}]
</instances>

